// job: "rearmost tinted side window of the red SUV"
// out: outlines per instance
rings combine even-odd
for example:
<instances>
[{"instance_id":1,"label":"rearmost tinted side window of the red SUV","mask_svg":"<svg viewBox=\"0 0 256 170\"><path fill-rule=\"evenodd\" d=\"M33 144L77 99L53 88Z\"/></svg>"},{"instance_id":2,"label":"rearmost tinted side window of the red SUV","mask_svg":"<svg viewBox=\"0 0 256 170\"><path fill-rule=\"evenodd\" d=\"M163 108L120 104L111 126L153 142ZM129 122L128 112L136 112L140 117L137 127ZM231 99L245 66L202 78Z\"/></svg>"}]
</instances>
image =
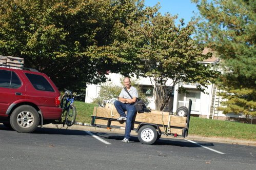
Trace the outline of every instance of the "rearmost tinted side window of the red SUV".
<instances>
[{"instance_id":1,"label":"rearmost tinted side window of the red SUV","mask_svg":"<svg viewBox=\"0 0 256 170\"><path fill-rule=\"evenodd\" d=\"M30 73L25 74L36 90L54 92L51 84L46 80L44 76Z\"/></svg>"}]
</instances>

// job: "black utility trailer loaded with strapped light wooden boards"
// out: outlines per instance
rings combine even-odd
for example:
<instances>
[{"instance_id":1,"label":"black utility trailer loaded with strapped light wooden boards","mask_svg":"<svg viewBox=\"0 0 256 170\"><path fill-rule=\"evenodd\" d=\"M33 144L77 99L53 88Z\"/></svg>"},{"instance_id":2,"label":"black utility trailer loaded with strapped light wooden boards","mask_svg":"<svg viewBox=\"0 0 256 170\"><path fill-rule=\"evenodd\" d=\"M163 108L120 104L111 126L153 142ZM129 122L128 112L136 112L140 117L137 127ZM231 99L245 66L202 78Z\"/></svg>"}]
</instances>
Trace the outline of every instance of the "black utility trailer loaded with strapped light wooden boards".
<instances>
[{"instance_id":1,"label":"black utility trailer loaded with strapped light wooden boards","mask_svg":"<svg viewBox=\"0 0 256 170\"><path fill-rule=\"evenodd\" d=\"M188 136L192 101L189 100L188 109L180 107L176 114L170 112L151 111L149 113L137 113L133 117L131 130L136 131L143 144L153 144L162 134L174 137ZM183 115L183 116L178 116ZM120 117L113 104L103 107L94 107L91 125L98 128L125 129L125 120L119 121Z\"/></svg>"}]
</instances>

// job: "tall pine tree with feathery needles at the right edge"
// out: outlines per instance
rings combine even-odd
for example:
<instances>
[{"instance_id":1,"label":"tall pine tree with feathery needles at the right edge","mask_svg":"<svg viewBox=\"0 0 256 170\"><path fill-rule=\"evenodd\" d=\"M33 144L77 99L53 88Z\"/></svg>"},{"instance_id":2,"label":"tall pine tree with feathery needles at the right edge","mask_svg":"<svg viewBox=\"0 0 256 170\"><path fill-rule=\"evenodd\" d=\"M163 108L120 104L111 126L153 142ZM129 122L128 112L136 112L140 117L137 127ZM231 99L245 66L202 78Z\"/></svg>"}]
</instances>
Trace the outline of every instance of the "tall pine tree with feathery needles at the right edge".
<instances>
[{"instance_id":1,"label":"tall pine tree with feathery needles at the right edge","mask_svg":"<svg viewBox=\"0 0 256 170\"><path fill-rule=\"evenodd\" d=\"M254 0L197 1L198 39L222 58L224 113L255 115L256 25Z\"/></svg>"}]
</instances>

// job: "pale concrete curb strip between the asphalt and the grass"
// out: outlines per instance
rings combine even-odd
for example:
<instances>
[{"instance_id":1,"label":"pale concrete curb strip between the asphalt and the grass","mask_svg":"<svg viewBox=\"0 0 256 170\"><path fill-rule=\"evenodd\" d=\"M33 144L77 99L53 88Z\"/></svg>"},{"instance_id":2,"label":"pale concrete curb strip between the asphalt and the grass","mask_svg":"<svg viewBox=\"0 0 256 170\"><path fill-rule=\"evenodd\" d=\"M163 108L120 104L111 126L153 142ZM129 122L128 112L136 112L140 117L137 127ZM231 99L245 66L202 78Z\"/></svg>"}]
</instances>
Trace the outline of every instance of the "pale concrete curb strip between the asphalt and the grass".
<instances>
[{"instance_id":1,"label":"pale concrete curb strip between the asphalt and the grass","mask_svg":"<svg viewBox=\"0 0 256 170\"><path fill-rule=\"evenodd\" d=\"M105 128L95 128L90 126L89 124L86 125L72 125L71 127L67 127L66 125L63 127L60 125L55 124L46 124L43 128L61 128L61 129L69 129L69 130L82 130L82 131L89 131L89 132L104 132L104 133L117 133L117 134L124 134L124 130L122 129L110 129L107 130ZM135 131L131 131L131 135L137 135ZM161 138L174 138L173 136L165 136L162 135ZM186 138L183 137L176 137L177 139L186 139L192 141L207 141L207 142L216 142L216 143L230 143L230 144L240 144L240 145L249 145L249 146L256 146L256 141L247 141L247 140L238 140L238 139L229 139L229 138L220 138L220 137L203 137L203 136L196 136L196 135L189 135Z\"/></svg>"}]
</instances>

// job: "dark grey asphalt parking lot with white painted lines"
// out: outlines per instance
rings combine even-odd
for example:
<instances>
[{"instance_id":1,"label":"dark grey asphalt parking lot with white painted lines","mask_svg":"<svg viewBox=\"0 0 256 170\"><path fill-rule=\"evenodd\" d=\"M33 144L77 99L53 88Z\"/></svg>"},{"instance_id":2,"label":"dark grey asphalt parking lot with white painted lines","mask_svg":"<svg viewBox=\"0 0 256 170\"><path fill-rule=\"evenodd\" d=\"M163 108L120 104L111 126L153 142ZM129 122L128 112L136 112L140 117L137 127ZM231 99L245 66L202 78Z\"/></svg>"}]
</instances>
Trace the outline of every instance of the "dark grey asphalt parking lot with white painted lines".
<instances>
[{"instance_id":1,"label":"dark grey asphalt parking lot with white painted lines","mask_svg":"<svg viewBox=\"0 0 256 170\"><path fill-rule=\"evenodd\" d=\"M117 133L81 125L58 128L62 129L50 124L24 134L0 124L1 169L256 168L254 146L191 138L160 138L145 145L134 135L130 143L122 143L123 130Z\"/></svg>"}]
</instances>

